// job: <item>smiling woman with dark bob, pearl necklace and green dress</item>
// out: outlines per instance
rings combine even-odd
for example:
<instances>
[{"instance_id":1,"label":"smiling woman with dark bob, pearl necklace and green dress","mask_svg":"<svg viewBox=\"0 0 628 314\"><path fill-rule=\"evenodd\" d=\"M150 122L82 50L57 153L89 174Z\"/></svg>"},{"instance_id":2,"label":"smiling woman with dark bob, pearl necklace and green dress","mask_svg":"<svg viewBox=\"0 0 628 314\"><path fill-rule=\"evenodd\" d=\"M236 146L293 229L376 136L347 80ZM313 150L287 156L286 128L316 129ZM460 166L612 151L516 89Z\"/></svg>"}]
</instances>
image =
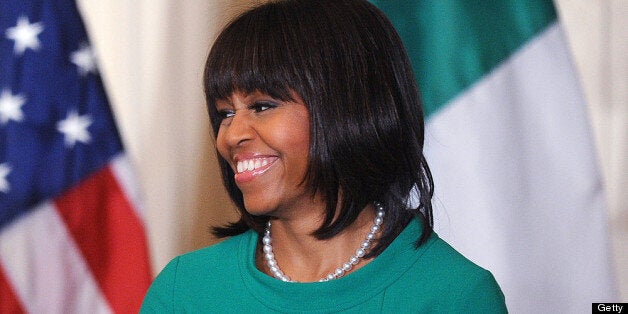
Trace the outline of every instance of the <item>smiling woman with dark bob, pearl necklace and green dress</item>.
<instances>
[{"instance_id":1,"label":"smiling woman with dark bob, pearl necklace and green dress","mask_svg":"<svg viewBox=\"0 0 628 314\"><path fill-rule=\"evenodd\" d=\"M171 261L143 312L506 311L493 276L432 231L418 91L378 9L251 9L217 38L204 81L241 218Z\"/></svg>"}]
</instances>

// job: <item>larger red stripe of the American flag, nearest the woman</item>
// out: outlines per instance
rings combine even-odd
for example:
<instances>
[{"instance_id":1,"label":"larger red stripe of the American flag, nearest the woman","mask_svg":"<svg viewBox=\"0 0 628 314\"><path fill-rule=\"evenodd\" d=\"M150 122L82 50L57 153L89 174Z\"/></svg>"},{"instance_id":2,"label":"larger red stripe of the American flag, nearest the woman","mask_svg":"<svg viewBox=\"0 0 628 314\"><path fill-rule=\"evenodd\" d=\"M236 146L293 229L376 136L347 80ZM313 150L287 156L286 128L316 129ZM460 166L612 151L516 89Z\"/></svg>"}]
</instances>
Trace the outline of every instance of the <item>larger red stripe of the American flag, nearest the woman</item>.
<instances>
[{"instance_id":1,"label":"larger red stripe of the American flag, nearest the woman","mask_svg":"<svg viewBox=\"0 0 628 314\"><path fill-rule=\"evenodd\" d=\"M137 313L150 274L143 224L109 167L55 201L107 301L116 313Z\"/></svg>"}]
</instances>

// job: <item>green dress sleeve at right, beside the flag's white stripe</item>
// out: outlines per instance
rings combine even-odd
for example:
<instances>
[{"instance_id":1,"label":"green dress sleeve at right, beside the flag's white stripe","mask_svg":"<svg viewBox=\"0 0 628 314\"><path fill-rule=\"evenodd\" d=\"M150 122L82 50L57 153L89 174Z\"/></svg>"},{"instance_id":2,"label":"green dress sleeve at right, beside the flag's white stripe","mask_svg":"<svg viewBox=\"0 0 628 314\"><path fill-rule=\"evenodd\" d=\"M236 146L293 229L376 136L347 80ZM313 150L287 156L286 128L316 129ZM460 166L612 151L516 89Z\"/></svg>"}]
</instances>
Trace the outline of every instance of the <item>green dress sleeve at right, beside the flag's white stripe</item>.
<instances>
[{"instance_id":1,"label":"green dress sleeve at right, beside the flag's white stripe","mask_svg":"<svg viewBox=\"0 0 628 314\"><path fill-rule=\"evenodd\" d=\"M504 294L488 271L468 278L451 310L451 313L508 313Z\"/></svg>"}]
</instances>

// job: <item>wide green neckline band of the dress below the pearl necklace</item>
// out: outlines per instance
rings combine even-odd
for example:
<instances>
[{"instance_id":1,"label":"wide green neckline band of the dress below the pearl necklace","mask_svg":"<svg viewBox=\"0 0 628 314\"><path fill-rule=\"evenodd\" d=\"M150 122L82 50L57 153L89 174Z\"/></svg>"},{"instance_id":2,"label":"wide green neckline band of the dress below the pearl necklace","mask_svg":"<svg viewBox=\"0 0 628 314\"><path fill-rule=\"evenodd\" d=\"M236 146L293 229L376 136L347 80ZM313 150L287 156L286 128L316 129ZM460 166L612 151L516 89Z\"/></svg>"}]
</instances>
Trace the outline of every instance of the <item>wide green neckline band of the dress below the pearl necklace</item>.
<instances>
[{"instance_id":1,"label":"wide green neckline band of the dress below the pearl necklace","mask_svg":"<svg viewBox=\"0 0 628 314\"><path fill-rule=\"evenodd\" d=\"M237 260L244 285L259 302L278 311L338 311L364 303L398 280L434 242L435 234L419 249L421 233L413 219L379 256L344 277L327 282L283 282L257 269L255 251L259 236L250 230L242 238ZM420 266L416 266L420 267ZM312 300L316 308L312 308Z\"/></svg>"}]
</instances>

